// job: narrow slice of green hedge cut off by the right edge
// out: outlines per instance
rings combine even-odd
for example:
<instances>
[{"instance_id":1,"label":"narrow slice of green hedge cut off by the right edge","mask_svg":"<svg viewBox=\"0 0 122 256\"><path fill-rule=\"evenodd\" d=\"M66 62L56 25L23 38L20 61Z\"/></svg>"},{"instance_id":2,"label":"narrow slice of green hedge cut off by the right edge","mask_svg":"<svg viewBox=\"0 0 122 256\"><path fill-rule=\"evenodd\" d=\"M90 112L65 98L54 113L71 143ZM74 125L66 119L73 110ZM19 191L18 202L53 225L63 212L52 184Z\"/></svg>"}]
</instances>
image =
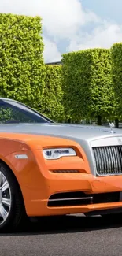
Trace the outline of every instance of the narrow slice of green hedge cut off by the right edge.
<instances>
[{"instance_id":1,"label":"narrow slice of green hedge cut off by the right edge","mask_svg":"<svg viewBox=\"0 0 122 256\"><path fill-rule=\"evenodd\" d=\"M113 85L116 98L116 117L122 117L122 43L115 43L111 48Z\"/></svg>"}]
</instances>

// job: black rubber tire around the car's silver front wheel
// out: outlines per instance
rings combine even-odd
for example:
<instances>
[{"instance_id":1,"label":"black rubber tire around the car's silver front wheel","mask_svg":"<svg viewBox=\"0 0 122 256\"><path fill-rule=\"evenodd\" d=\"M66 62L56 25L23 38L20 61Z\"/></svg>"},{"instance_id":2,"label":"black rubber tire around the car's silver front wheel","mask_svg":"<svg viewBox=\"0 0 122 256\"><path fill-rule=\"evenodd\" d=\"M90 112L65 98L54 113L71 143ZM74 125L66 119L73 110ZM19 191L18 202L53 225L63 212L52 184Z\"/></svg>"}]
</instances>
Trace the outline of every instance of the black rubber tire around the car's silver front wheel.
<instances>
[{"instance_id":1,"label":"black rubber tire around the car's silver front wheel","mask_svg":"<svg viewBox=\"0 0 122 256\"><path fill-rule=\"evenodd\" d=\"M0 193L1 193L1 198L3 198L3 193L5 197L6 196L9 199L10 206L8 206L8 215L5 214L6 220L4 221L4 217L2 217L2 208L7 207L6 205L2 203L4 201L1 200L0 202L0 232L9 232L15 230L20 222L22 221L23 217L26 215L25 210L24 210L24 201L21 195L20 187L17 184L17 180L15 176L13 175L12 171L9 169L9 167L0 162L0 176L2 180L6 179L6 182L9 184L9 188L6 189L6 191L3 192L3 182L0 184ZM8 194L7 194L8 193ZM7 198L6 198L7 199ZM2 208L1 208L2 206ZM3 207L4 206L4 207ZM7 208L6 208L7 209ZM7 210L6 210L7 212Z\"/></svg>"}]
</instances>

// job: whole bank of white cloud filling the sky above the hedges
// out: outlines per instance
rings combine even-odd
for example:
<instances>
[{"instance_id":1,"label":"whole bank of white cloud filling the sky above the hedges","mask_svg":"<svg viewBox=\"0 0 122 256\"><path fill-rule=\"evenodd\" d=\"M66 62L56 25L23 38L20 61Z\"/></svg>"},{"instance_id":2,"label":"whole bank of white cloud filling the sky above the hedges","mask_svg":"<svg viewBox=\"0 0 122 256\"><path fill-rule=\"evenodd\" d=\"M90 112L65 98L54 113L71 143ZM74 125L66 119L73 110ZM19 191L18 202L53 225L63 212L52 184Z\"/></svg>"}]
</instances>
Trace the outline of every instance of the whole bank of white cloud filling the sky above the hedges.
<instances>
[{"instance_id":1,"label":"whole bank of white cloud filling the sky above the hedges","mask_svg":"<svg viewBox=\"0 0 122 256\"><path fill-rule=\"evenodd\" d=\"M122 41L122 26L109 24L91 10L84 10L81 0L0 0L0 12L43 17L46 62L61 60L62 50L57 47L60 42L67 43L66 52L109 48L113 43ZM86 25L91 22L94 29L84 32L83 26L87 30Z\"/></svg>"}]
</instances>

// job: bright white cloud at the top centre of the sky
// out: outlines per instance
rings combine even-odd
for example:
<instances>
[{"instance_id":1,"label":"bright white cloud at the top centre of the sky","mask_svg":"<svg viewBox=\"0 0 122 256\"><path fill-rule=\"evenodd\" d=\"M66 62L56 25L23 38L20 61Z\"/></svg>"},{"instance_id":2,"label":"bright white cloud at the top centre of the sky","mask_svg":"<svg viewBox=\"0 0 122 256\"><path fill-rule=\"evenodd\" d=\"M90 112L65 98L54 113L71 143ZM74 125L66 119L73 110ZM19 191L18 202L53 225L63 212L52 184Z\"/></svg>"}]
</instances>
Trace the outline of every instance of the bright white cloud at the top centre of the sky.
<instances>
[{"instance_id":1,"label":"bright white cloud at the top centre of the sky","mask_svg":"<svg viewBox=\"0 0 122 256\"><path fill-rule=\"evenodd\" d=\"M98 21L94 13L83 12L79 0L44 0L41 10L44 28L56 40L71 39L83 24Z\"/></svg>"}]
</instances>

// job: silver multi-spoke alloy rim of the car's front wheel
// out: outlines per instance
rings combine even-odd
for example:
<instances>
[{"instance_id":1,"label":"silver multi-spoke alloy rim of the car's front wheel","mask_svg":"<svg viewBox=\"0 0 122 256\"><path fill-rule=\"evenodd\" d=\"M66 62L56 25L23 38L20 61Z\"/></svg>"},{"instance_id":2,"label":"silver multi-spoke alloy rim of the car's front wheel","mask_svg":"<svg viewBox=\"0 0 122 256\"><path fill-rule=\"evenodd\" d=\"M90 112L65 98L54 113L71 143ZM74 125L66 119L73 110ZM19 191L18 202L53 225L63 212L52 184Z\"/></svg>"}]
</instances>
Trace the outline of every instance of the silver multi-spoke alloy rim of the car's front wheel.
<instances>
[{"instance_id":1,"label":"silver multi-spoke alloy rim of the car's front wheel","mask_svg":"<svg viewBox=\"0 0 122 256\"><path fill-rule=\"evenodd\" d=\"M0 225L2 225L11 209L11 191L6 176L0 172Z\"/></svg>"}]
</instances>

